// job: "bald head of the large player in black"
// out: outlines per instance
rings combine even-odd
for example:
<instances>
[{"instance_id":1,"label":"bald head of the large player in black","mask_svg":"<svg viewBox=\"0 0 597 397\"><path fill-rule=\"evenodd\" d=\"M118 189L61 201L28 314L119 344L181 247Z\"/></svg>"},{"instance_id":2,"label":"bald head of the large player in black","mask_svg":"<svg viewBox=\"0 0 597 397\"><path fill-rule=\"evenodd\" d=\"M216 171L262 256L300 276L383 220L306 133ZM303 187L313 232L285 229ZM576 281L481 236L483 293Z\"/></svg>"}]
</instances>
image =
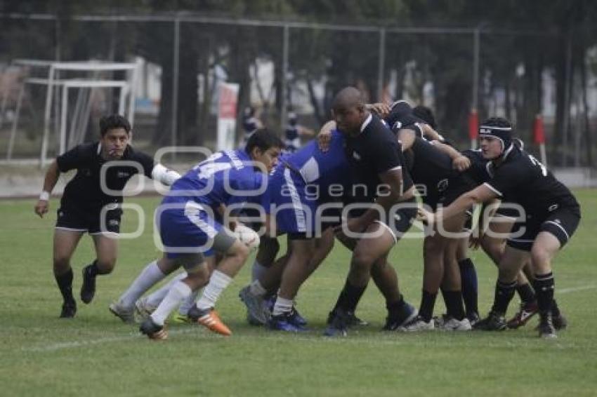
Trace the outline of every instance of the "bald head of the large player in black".
<instances>
[{"instance_id":1,"label":"bald head of the large player in black","mask_svg":"<svg viewBox=\"0 0 597 397\"><path fill-rule=\"evenodd\" d=\"M342 88L332 102L332 116L337 128L348 135L358 135L362 123L369 112L359 90L354 87Z\"/></svg>"}]
</instances>

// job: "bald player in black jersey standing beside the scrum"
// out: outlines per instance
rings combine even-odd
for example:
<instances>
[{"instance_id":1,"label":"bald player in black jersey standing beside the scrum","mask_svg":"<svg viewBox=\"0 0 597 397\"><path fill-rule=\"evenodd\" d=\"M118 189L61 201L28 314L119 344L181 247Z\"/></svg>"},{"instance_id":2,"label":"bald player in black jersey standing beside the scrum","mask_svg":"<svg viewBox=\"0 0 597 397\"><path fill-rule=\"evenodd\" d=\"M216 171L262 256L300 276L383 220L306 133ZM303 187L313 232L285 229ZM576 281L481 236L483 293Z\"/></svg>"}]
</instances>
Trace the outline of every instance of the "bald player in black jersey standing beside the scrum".
<instances>
[{"instance_id":1,"label":"bald player in black jersey standing beside the scrum","mask_svg":"<svg viewBox=\"0 0 597 397\"><path fill-rule=\"evenodd\" d=\"M412 224L416 213L414 185L408 171L402 168L402 152L395 136L369 112L356 88L341 90L332 109L338 130L346 135L346 153L354 179L365 185L366 194L357 198L364 212L349 218L337 234L353 250L353 257L324 334L346 335L369 277L375 279L386 298L388 318L384 328L395 330L416 316L416 309L400 294L396 272L386 260L392 246ZM374 210L373 203L383 210ZM396 208L398 203L402 206ZM395 213L391 212L393 207Z\"/></svg>"}]
</instances>

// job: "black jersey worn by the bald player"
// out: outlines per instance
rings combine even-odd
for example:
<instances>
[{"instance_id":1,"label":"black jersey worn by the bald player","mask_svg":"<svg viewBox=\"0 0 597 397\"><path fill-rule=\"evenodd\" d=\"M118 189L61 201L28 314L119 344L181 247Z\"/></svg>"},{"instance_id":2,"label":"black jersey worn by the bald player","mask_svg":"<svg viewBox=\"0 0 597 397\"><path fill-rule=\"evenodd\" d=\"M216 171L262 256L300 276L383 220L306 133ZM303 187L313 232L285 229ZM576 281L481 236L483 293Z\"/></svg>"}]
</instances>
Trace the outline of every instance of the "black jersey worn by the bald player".
<instances>
[{"instance_id":1,"label":"black jersey worn by the bald player","mask_svg":"<svg viewBox=\"0 0 597 397\"><path fill-rule=\"evenodd\" d=\"M353 168L355 182L367 187L367 196L358 197L359 200L372 201L382 184L379 174L394 168L402 169L403 192L413 185L400 144L386 124L374 114L359 135L346 135L346 156Z\"/></svg>"}]
</instances>

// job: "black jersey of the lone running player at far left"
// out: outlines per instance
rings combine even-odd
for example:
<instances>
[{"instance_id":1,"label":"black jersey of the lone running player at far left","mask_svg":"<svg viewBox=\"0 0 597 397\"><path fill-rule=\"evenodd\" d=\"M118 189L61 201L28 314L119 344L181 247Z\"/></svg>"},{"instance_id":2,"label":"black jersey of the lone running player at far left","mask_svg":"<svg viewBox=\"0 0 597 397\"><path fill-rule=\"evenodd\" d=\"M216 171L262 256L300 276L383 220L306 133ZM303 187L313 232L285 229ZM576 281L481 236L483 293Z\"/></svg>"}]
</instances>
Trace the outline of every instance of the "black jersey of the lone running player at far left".
<instances>
[{"instance_id":1,"label":"black jersey of the lone running player at far left","mask_svg":"<svg viewBox=\"0 0 597 397\"><path fill-rule=\"evenodd\" d=\"M65 187L61 206L98 211L108 203L122 203L122 189L136 173L142 172L146 177L151 177L154 161L147 154L136 152L129 145L122 159L106 161L100 155L100 150L100 142L79 144L56 158L61 173L77 170ZM119 161L129 161L137 166L119 165ZM105 168L106 187L112 192L103 191L101 187L102 168Z\"/></svg>"}]
</instances>

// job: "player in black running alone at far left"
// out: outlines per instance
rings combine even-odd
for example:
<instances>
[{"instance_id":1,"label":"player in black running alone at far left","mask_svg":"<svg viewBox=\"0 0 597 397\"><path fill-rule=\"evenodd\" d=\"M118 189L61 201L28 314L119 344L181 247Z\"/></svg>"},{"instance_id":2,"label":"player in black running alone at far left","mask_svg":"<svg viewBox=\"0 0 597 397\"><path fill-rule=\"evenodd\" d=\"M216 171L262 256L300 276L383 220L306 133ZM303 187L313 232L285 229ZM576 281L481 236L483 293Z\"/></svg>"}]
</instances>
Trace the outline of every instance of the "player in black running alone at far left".
<instances>
[{"instance_id":1,"label":"player in black running alone at far left","mask_svg":"<svg viewBox=\"0 0 597 397\"><path fill-rule=\"evenodd\" d=\"M46 172L44 188L35 205L39 217L48 212L49 197L60 173L77 170L67 183L58 208L53 242L53 270L63 295L62 318L72 318L77 304L72 296L70 259L81 236L88 233L96 248L96 260L83 269L81 300L88 304L96 292L96 276L110 274L117 259L122 189L137 173L164 184L180 175L155 163L151 156L129 145L131 125L113 114L100 119L100 140L79 144L58 156Z\"/></svg>"}]
</instances>

